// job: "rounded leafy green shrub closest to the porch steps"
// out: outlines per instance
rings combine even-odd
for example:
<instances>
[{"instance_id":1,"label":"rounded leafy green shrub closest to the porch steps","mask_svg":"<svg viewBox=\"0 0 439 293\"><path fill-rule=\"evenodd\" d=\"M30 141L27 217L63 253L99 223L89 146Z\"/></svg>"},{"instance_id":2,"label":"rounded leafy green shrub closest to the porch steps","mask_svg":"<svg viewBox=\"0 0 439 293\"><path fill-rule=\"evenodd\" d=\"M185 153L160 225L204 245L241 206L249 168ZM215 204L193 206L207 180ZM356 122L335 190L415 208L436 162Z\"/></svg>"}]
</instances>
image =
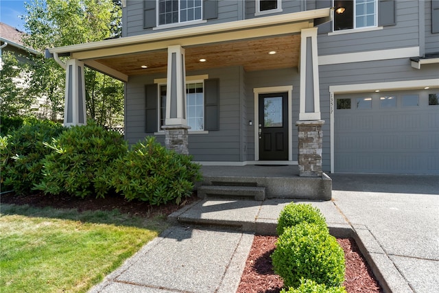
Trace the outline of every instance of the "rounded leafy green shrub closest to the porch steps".
<instances>
[{"instance_id":1,"label":"rounded leafy green shrub closest to the porch steps","mask_svg":"<svg viewBox=\"0 0 439 293\"><path fill-rule=\"evenodd\" d=\"M128 200L150 204L175 200L179 204L191 195L193 181L200 180L200 165L193 163L191 156L167 150L149 137L117 159L109 177L116 191Z\"/></svg>"}]
</instances>

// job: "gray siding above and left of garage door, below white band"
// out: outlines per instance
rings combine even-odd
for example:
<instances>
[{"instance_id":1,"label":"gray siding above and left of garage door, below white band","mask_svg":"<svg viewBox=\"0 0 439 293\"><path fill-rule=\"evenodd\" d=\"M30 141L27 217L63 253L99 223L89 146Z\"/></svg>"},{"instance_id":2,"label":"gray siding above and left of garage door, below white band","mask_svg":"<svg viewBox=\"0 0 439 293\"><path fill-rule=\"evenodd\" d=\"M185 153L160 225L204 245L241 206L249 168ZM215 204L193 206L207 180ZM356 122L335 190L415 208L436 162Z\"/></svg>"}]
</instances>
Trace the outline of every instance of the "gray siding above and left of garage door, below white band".
<instances>
[{"instance_id":1,"label":"gray siding above and left of garage door, below white band","mask_svg":"<svg viewBox=\"0 0 439 293\"><path fill-rule=\"evenodd\" d=\"M433 79L438 78L437 72L437 65L434 64L423 65L420 70L414 69L410 66L409 58L320 66L320 110L325 121L322 128L324 171L329 171L331 163L329 86Z\"/></svg>"}]
</instances>

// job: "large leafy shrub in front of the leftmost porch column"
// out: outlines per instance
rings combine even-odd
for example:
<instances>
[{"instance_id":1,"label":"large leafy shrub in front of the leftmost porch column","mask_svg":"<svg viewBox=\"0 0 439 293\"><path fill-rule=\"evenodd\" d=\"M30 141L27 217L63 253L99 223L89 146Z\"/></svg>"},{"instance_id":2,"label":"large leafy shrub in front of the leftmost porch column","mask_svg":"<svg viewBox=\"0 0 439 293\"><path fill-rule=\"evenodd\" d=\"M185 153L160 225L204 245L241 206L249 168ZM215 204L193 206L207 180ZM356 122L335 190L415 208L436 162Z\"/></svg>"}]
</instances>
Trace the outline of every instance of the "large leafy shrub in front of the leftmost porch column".
<instances>
[{"instance_id":1,"label":"large leafy shrub in front of the leftmost porch column","mask_svg":"<svg viewBox=\"0 0 439 293\"><path fill-rule=\"evenodd\" d=\"M68 128L46 145L53 151L43 160L45 176L36 189L81 198L108 193L108 168L128 150L120 134L104 130L93 121Z\"/></svg>"}]
</instances>

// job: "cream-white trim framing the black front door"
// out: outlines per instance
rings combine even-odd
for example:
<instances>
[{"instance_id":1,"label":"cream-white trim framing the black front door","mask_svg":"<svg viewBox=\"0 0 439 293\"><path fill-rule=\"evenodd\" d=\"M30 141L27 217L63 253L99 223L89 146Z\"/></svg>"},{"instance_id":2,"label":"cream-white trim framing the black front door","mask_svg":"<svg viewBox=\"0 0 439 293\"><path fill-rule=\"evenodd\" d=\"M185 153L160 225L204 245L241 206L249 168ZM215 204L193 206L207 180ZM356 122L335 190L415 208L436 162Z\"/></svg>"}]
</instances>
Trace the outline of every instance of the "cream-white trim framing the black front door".
<instances>
[{"instance_id":1,"label":"cream-white trim framing the black front door","mask_svg":"<svg viewBox=\"0 0 439 293\"><path fill-rule=\"evenodd\" d=\"M259 94L288 93L288 161L293 161L292 92L293 86L254 88L254 161L259 161Z\"/></svg>"}]
</instances>

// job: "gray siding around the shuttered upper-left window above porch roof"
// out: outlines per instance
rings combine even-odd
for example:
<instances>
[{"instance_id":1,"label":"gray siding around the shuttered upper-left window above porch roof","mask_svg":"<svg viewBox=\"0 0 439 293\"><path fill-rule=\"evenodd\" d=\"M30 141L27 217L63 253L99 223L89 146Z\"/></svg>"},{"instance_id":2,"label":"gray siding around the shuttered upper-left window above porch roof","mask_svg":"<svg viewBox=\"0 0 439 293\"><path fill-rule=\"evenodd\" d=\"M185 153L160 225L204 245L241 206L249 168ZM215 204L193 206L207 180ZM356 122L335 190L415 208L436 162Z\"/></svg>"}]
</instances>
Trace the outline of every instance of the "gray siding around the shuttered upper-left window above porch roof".
<instances>
[{"instance_id":1,"label":"gray siding around the shuttered upper-left window above porch roof","mask_svg":"<svg viewBox=\"0 0 439 293\"><path fill-rule=\"evenodd\" d=\"M209 19L206 23L193 26L211 25L215 23L226 23L229 21L238 21L243 19L244 5L240 0L220 0L218 1L218 18ZM127 0L126 8L123 9L123 27L126 27L126 34L123 36L137 36L140 34L152 34L154 32L165 32L169 30L180 30L192 25L182 25L164 30L152 30L143 28L143 1ZM124 30L125 31L125 30Z\"/></svg>"}]
</instances>

